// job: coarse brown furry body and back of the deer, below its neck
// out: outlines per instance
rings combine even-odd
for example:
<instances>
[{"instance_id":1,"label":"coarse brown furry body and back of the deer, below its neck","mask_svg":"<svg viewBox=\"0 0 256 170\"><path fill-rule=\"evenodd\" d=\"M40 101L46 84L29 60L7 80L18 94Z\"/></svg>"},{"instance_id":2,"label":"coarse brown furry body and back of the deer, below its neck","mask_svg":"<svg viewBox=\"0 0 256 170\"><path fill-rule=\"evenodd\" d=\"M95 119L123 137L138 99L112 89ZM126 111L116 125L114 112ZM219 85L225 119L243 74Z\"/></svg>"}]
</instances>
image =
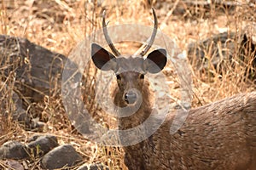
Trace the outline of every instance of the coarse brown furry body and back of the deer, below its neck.
<instances>
[{"instance_id":1,"label":"coarse brown furry body and back of the deer, below its neck","mask_svg":"<svg viewBox=\"0 0 256 170\"><path fill-rule=\"evenodd\" d=\"M256 92L189 111L174 134L172 119L125 148L129 169L256 169Z\"/></svg>"}]
</instances>

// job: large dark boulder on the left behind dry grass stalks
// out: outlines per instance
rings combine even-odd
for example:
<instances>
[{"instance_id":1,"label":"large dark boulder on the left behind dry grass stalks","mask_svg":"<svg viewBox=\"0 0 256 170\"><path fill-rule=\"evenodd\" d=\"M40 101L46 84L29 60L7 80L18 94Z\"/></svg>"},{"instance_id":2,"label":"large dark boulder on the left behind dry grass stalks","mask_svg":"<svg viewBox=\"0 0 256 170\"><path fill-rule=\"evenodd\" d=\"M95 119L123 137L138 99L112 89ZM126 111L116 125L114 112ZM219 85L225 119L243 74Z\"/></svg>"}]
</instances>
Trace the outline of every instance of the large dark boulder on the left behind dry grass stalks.
<instances>
[{"instance_id":1,"label":"large dark boulder on the left behind dry grass stalks","mask_svg":"<svg viewBox=\"0 0 256 170\"><path fill-rule=\"evenodd\" d=\"M81 76L78 66L63 54L52 52L26 38L0 35L0 67L3 67L0 77L3 82L7 77L15 80L11 90L17 92L15 95L20 98L17 104L21 107L13 116L25 129L43 130L44 122L37 120L42 110L32 103L44 102L45 95L61 97L62 72L67 61L72 67L69 74Z\"/></svg>"}]
</instances>

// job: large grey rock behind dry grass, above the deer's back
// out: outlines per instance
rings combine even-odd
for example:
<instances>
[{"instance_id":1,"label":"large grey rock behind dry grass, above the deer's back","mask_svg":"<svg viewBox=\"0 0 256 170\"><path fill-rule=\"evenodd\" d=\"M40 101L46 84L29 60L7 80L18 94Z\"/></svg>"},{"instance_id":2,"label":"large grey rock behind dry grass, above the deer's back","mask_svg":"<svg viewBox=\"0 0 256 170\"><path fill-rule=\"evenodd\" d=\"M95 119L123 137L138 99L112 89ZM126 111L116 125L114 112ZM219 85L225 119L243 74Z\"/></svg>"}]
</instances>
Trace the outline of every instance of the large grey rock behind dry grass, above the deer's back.
<instances>
[{"instance_id":1,"label":"large grey rock behind dry grass, above the deer's back","mask_svg":"<svg viewBox=\"0 0 256 170\"><path fill-rule=\"evenodd\" d=\"M213 66L220 74L230 65L239 64L246 68L251 63L247 77L251 80L256 78L256 44L246 34L223 32L201 42L192 42L188 46L188 58L197 71L211 72Z\"/></svg>"}]
</instances>

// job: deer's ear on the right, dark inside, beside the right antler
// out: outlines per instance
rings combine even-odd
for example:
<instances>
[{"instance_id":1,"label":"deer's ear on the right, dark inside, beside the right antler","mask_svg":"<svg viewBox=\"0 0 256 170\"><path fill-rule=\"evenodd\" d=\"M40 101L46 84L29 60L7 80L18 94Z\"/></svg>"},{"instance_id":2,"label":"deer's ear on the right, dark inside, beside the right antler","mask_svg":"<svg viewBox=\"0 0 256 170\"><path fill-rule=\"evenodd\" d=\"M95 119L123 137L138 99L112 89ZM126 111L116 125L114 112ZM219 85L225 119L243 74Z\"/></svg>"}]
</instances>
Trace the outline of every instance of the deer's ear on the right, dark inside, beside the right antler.
<instances>
[{"instance_id":1,"label":"deer's ear on the right, dark inside, beside the right antler","mask_svg":"<svg viewBox=\"0 0 256 170\"><path fill-rule=\"evenodd\" d=\"M147 59L144 61L144 68L150 73L158 73L166 66L166 62L166 49L156 49L148 54Z\"/></svg>"}]
</instances>

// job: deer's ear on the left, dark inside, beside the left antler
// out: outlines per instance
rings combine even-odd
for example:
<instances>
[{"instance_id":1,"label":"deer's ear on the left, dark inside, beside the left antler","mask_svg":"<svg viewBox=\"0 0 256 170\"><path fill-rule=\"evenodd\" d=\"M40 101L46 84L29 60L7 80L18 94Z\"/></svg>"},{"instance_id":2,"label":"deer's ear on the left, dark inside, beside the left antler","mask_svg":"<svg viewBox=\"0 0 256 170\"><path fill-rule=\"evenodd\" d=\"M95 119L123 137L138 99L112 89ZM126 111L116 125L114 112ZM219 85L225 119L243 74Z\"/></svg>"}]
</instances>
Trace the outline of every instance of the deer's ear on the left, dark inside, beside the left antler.
<instances>
[{"instance_id":1,"label":"deer's ear on the left, dark inside, beside the left antler","mask_svg":"<svg viewBox=\"0 0 256 170\"><path fill-rule=\"evenodd\" d=\"M114 70L116 67L114 55L96 43L91 44L91 59L94 65L102 71Z\"/></svg>"}]
</instances>

